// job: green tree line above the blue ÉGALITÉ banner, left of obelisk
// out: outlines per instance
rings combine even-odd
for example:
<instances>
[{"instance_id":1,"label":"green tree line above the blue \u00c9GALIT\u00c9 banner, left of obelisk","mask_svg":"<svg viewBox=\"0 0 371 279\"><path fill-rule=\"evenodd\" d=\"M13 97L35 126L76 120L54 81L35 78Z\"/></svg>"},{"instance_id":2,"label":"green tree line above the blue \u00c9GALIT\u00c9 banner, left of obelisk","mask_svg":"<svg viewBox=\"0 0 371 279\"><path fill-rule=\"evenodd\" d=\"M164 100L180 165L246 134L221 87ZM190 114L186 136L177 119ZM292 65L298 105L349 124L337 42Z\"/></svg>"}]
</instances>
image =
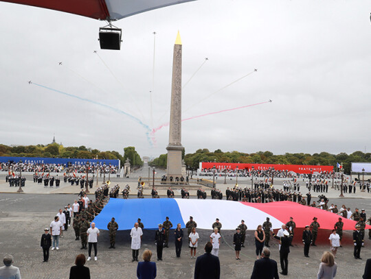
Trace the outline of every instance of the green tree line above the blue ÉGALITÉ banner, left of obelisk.
<instances>
[{"instance_id":1,"label":"green tree line above the blue \u00c9GALIT\u00c9 banner, left of obelisk","mask_svg":"<svg viewBox=\"0 0 371 279\"><path fill-rule=\"evenodd\" d=\"M142 166L143 161L140 158L135 147L125 147L124 156L117 151L100 151L81 145L79 147L64 147L58 143L49 145L18 145L8 146L0 144L0 156L14 157L41 157L41 158L82 158L82 159L106 159L120 160L123 166L126 158L132 166Z\"/></svg>"}]
</instances>

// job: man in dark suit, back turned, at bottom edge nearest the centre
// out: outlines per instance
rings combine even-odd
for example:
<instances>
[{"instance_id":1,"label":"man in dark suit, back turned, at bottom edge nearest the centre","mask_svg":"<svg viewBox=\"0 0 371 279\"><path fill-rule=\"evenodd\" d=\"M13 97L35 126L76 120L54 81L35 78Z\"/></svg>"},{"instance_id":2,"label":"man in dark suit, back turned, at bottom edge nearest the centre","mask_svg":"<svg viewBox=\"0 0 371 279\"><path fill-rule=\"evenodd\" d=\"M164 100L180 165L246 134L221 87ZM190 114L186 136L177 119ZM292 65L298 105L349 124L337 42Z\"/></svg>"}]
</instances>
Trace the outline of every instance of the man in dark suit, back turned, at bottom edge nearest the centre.
<instances>
[{"instance_id":1,"label":"man in dark suit, back turned, at bottom edge nearest the centre","mask_svg":"<svg viewBox=\"0 0 371 279\"><path fill-rule=\"evenodd\" d=\"M221 263L219 258L210 254L212 243L205 244L205 254L196 259L194 266L194 279L219 279L221 278Z\"/></svg>"}]
</instances>

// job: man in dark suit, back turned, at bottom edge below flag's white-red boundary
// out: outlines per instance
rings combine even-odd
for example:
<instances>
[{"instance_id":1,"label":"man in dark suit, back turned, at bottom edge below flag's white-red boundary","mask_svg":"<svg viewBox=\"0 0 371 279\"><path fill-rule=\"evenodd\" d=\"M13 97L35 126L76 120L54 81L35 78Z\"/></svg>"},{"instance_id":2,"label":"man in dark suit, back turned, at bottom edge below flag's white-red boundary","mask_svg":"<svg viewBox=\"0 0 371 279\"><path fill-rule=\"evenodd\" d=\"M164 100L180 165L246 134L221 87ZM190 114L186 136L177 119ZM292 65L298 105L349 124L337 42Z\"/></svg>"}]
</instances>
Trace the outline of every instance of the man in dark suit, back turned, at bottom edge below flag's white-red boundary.
<instances>
[{"instance_id":1,"label":"man in dark suit, back turned, at bottom edge below flag's white-red boundary","mask_svg":"<svg viewBox=\"0 0 371 279\"><path fill-rule=\"evenodd\" d=\"M256 260L250 279L280 279L276 260L271 260L271 251L267 247L262 250L262 258Z\"/></svg>"}]
</instances>

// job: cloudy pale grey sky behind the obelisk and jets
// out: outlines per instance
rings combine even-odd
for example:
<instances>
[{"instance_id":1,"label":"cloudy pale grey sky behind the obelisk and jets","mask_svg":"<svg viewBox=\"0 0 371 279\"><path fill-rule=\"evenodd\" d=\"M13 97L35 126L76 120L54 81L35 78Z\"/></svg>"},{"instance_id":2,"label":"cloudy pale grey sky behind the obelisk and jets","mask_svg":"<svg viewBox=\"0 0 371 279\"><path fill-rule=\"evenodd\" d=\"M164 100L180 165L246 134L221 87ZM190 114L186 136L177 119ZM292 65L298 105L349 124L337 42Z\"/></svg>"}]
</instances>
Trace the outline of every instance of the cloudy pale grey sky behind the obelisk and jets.
<instances>
[{"instance_id":1,"label":"cloudy pale grey sky behind the obelisk and jets","mask_svg":"<svg viewBox=\"0 0 371 279\"><path fill-rule=\"evenodd\" d=\"M3 2L0 15L3 144L46 144L55 133L65 146L166 153L168 127L153 145L127 114L151 129L168 122L179 30L183 85L202 65L183 88L183 118L273 100L184 121L186 152L371 149L369 1L183 3L115 22L120 51L100 50L104 22Z\"/></svg>"}]
</instances>

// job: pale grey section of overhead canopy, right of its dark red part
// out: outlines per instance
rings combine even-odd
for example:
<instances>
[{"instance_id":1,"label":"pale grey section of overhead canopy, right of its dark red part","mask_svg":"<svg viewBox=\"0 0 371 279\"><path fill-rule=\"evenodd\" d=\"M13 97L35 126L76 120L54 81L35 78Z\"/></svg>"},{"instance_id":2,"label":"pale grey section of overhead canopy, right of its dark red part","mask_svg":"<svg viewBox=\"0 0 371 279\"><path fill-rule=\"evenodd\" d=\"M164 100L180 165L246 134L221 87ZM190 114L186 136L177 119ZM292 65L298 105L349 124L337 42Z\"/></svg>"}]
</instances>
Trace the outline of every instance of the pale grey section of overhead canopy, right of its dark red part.
<instances>
[{"instance_id":1,"label":"pale grey section of overhead canopy, right of its dark red part","mask_svg":"<svg viewBox=\"0 0 371 279\"><path fill-rule=\"evenodd\" d=\"M106 0L111 20L195 0Z\"/></svg>"}]
</instances>

